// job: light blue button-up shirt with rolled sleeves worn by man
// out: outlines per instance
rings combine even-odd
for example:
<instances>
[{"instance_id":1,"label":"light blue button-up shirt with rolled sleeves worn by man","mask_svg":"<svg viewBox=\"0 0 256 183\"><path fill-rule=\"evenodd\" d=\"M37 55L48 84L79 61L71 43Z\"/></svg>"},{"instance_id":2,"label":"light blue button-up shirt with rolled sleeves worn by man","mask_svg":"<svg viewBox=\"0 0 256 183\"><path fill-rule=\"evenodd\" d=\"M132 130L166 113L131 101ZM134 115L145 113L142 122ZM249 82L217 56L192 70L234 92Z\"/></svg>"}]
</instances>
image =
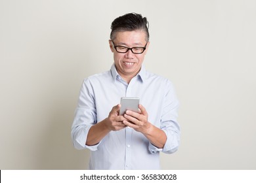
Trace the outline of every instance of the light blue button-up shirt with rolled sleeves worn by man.
<instances>
[{"instance_id":1,"label":"light blue button-up shirt with rolled sleeves worn by man","mask_svg":"<svg viewBox=\"0 0 256 183\"><path fill-rule=\"evenodd\" d=\"M107 118L121 97L140 98L148 112L148 122L167 136L163 148L157 148L130 127L111 131L94 146L85 145L90 127ZM173 84L166 78L149 73L142 66L127 84L112 65L110 71L83 81L72 125L73 144L77 149L91 150L89 169L160 169L160 152L171 154L179 147L178 107Z\"/></svg>"}]
</instances>

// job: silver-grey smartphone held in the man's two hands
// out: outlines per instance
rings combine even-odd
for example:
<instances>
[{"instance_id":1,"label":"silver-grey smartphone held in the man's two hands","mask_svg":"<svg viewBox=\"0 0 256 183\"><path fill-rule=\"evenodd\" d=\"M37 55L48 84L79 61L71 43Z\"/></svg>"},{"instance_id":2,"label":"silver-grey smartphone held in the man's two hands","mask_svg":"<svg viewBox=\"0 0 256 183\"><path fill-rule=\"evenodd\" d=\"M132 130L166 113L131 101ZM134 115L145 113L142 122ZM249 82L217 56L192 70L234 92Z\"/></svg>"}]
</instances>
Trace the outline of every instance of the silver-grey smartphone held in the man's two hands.
<instances>
[{"instance_id":1,"label":"silver-grey smartphone held in the man's two hands","mask_svg":"<svg viewBox=\"0 0 256 183\"><path fill-rule=\"evenodd\" d=\"M125 114L126 110L139 112L139 102L140 99L137 97L121 97L121 108L119 111L119 115Z\"/></svg>"}]
</instances>

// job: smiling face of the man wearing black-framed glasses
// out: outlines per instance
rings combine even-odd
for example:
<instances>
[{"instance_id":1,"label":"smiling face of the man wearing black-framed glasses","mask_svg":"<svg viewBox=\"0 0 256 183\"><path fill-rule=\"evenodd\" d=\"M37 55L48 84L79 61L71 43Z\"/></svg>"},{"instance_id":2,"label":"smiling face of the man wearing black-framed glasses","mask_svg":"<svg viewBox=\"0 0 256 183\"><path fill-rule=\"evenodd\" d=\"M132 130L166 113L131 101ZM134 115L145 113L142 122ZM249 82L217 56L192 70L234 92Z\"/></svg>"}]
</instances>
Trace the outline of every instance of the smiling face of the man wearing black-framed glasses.
<instances>
[{"instance_id":1,"label":"smiling face of the man wearing black-framed glasses","mask_svg":"<svg viewBox=\"0 0 256 183\"><path fill-rule=\"evenodd\" d=\"M113 40L116 46L126 46L128 48L144 47L146 45L146 33L144 31L124 31L117 32L116 39ZM146 51L148 50L148 44L146 50L142 54L133 54L131 50L126 53L119 53L114 48L112 41L109 41L110 49L114 53L114 63L116 65L117 73L123 79L130 79L139 73Z\"/></svg>"}]
</instances>

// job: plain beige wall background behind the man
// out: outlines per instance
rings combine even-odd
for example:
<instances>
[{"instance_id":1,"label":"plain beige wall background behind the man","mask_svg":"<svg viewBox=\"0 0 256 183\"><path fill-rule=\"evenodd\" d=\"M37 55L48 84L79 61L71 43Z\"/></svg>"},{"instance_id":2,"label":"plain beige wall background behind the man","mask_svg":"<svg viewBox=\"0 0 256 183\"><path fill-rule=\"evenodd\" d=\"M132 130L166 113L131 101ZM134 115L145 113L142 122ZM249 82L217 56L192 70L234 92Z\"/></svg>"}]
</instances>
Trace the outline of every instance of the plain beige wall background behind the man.
<instances>
[{"instance_id":1,"label":"plain beige wall background behind the man","mask_svg":"<svg viewBox=\"0 0 256 183\"><path fill-rule=\"evenodd\" d=\"M0 169L87 169L70 129L83 78L110 69L110 24L150 22L146 68L181 101L163 169L256 169L256 1L0 0Z\"/></svg>"}]
</instances>

